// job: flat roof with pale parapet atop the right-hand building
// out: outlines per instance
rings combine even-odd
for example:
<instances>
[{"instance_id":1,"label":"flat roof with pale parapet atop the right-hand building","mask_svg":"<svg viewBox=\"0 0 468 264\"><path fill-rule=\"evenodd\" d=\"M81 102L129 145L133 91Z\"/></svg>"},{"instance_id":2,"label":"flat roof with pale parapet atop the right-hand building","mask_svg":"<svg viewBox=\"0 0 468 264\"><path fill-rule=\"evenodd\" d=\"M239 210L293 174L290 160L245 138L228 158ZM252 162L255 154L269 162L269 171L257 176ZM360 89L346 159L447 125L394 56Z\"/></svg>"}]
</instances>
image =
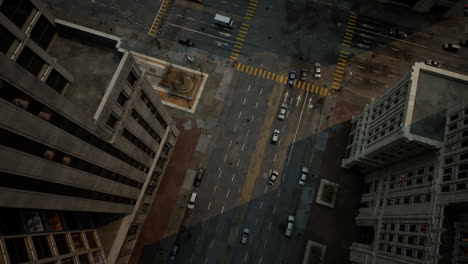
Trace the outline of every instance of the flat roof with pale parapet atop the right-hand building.
<instances>
[{"instance_id":1,"label":"flat roof with pale parapet atop the right-hand building","mask_svg":"<svg viewBox=\"0 0 468 264\"><path fill-rule=\"evenodd\" d=\"M412 81L411 133L443 141L446 109L468 101L468 76L416 63Z\"/></svg>"}]
</instances>

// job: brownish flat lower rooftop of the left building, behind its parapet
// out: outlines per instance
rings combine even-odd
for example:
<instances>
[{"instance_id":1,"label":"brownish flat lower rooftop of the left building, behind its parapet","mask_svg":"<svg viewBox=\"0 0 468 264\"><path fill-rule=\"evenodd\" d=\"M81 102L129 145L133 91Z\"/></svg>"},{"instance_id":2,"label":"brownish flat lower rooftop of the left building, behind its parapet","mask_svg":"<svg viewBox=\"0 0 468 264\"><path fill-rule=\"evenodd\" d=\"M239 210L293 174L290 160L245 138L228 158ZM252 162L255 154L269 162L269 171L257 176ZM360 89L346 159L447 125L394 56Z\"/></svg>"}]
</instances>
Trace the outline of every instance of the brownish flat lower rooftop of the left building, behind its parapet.
<instances>
[{"instance_id":1,"label":"brownish flat lower rooftop of the left building, behind its parapet","mask_svg":"<svg viewBox=\"0 0 468 264\"><path fill-rule=\"evenodd\" d=\"M49 54L74 77L65 98L94 115L123 54L115 47L93 42L86 33L71 32L59 33Z\"/></svg>"}]
</instances>

